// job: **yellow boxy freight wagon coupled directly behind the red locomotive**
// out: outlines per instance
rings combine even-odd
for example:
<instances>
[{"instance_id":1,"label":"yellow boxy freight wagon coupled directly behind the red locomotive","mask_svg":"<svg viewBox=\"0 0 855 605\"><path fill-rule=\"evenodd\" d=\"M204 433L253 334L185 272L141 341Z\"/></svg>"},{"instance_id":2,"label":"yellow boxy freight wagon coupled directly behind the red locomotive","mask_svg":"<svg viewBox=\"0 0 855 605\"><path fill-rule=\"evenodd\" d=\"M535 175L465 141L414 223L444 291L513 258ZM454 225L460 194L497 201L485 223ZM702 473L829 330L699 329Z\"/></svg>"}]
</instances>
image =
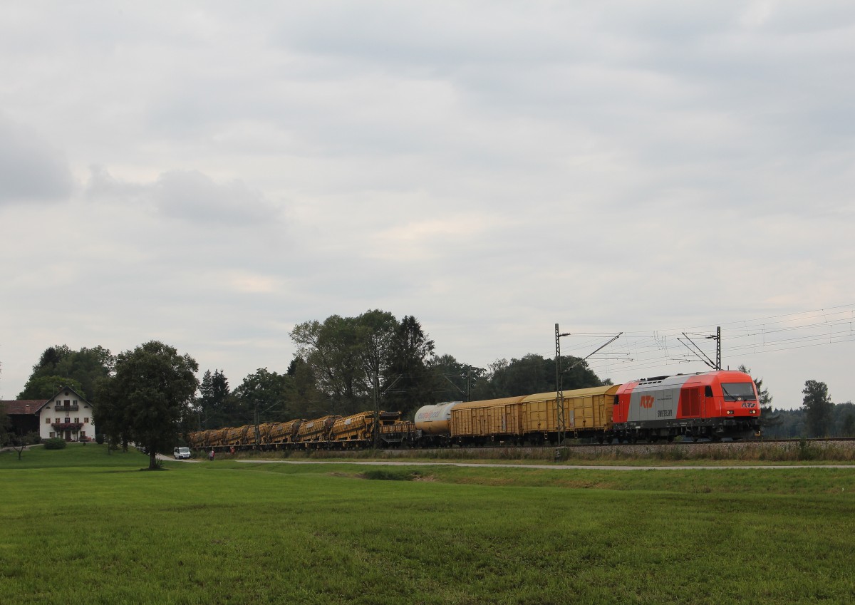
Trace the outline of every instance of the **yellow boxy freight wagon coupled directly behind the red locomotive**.
<instances>
[{"instance_id":1,"label":"yellow boxy freight wagon coupled directly behind the red locomotive","mask_svg":"<svg viewBox=\"0 0 855 605\"><path fill-rule=\"evenodd\" d=\"M611 412L620 385L595 386L563 392L564 432L566 437L601 437L611 430ZM522 434L528 441L542 443L557 439L557 392L539 393L523 398Z\"/></svg>"}]
</instances>

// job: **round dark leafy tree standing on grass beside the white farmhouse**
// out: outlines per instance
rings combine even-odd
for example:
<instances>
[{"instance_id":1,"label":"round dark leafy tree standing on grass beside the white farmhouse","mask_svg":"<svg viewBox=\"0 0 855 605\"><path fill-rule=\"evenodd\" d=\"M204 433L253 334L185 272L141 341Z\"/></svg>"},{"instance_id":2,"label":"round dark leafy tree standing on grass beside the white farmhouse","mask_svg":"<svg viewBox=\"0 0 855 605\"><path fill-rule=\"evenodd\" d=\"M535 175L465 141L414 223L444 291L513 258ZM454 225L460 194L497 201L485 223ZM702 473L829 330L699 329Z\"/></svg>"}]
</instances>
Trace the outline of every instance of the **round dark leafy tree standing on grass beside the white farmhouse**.
<instances>
[{"instance_id":1,"label":"round dark leafy tree standing on grass beside the white farmhouse","mask_svg":"<svg viewBox=\"0 0 855 605\"><path fill-rule=\"evenodd\" d=\"M156 340L121 353L115 376L100 384L98 425L136 443L157 468L157 454L169 451L190 411L198 369L190 355Z\"/></svg>"}]
</instances>

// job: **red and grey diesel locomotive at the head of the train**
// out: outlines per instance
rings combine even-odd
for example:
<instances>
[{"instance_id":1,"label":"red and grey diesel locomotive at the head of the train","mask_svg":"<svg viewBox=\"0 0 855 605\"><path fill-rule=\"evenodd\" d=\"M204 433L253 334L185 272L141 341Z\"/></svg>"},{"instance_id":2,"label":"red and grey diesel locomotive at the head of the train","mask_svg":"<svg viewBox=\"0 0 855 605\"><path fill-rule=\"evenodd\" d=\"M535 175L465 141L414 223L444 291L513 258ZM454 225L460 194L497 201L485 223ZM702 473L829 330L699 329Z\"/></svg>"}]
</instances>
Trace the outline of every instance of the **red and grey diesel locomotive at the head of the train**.
<instances>
[{"instance_id":1,"label":"red and grey diesel locomotive at the head of the train","mask_svg":"<svg viewBox=\"0 0 855 605\"><path fill-rule=\"evenodd\" d=\"M751 376L716 371L634 380L617 391L613 410L619 438L746 438L760 430Z\"/></svg>"}]
</instances>

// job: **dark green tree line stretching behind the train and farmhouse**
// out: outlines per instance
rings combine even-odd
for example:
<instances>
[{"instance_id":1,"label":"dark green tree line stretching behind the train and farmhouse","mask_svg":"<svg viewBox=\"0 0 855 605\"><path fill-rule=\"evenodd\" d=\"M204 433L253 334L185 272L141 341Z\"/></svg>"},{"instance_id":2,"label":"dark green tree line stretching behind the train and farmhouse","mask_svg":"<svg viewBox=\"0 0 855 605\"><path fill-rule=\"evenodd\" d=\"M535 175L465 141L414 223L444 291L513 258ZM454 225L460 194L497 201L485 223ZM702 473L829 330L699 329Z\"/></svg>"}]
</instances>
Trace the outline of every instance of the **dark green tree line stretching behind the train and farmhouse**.
<instances>
[{"instance_id":1,"label":"dark green tree line stretching behind the train and farmhouse","mask_svg":"<svg viewBox=\"0 0 855 605\"><path fill-rule=\"evenodd\" d=\"M398 320L373 309L355 317L294 326L297 351L282 373L258 368L231 387L221 369L197 378L190 355L157 341L112 355L108 349L44 350L18 399L47 399L68 385L95 407L97 430L114 445L137 443L150 455L175 443L176 433L244 426L377 408L412 418L422 405L477 401L555 391L555 360L528 354L488 367L437 355L415 317ZM610 384L581 359L563 355L563 388ZM740 370L751 373L749 368ZM792 413L771 408L763 379L754 379L768 436L855 433L852 403L835 406L828 387L805 383L803 407ZM0 441L9 441L9 420L0 413Z\"/></svg>"}]
</instances>

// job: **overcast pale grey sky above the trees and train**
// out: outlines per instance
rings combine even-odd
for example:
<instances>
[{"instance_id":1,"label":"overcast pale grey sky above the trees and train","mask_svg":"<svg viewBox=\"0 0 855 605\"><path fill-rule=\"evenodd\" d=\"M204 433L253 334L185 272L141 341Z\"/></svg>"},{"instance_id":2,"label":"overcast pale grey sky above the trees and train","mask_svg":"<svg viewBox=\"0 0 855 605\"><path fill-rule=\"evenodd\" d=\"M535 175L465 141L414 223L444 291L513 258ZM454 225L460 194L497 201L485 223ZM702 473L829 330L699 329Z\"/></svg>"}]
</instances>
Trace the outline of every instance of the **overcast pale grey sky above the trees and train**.
<instances>
[{"instance_id":1,"label":"overcast pale grey sky above the trees and train","mask_svg":"<svg viewBox=\"0 0 855 605\"><path fill-rule=\"evenodd\" d=\"M775 407L855 401L853 65L848 1L0 3L0 399L380 308L479 367L621 333L615 383L721 326Z\"/></svg>"}]
</instances>

